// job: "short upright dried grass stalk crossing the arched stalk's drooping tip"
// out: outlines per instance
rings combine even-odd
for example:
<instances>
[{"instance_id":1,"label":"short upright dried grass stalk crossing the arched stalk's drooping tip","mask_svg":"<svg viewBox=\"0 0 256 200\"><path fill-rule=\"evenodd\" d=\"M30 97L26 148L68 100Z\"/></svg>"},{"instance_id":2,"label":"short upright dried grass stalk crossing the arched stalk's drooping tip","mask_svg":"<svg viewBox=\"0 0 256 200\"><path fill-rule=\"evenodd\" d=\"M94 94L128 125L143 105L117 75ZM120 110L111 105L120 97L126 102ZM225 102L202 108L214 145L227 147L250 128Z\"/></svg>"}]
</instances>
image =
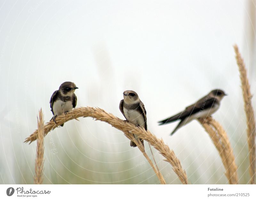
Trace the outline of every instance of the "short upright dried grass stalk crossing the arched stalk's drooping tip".
<instances>
[{"instance_id":1,"label":"short upright dried grass stalk crossing the arched stalk's drooping tip","mask_svg":"<svg viewBox=\"0 0 256 200\"><path fill-rule=\"evenodd\" d=\"M44 115L42 108L39 111L39 120L37 118L37 146L36 146L36 163L34 177L35 184L43 183L43 168L44 168Z\"/></svg>"}]
</instances>

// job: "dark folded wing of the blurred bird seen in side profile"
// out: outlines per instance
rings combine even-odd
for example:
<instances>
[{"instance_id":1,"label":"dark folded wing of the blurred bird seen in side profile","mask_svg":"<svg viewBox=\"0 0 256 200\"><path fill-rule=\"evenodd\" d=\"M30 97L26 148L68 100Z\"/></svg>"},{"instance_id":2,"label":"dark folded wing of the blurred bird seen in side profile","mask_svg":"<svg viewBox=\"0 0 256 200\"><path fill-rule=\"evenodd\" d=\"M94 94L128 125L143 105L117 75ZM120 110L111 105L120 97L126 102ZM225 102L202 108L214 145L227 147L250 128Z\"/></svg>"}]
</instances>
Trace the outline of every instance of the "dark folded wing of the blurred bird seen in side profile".
<instances>
[{"instance_id":1,"label":"dark folded wing of the blurred bird seen in side profile","mask_svg":"<svg viewBox=\"0 0 256 200\"><path fill-rule=\"evenodd\" d=\"M182 112L179 112L176 115L173 115L167 119L164 119L162 121L159 121L160 125L176 121L178 119L184 119L189 117L190 115L195 114L196 112L199 112L200 110L204 110L205 108L212 107L214 101L217 101L214 97L208 97L204 96L203 98L199 99L196 103L189 105L186 107L186 109Z\"/></svg>"}]
</instances>

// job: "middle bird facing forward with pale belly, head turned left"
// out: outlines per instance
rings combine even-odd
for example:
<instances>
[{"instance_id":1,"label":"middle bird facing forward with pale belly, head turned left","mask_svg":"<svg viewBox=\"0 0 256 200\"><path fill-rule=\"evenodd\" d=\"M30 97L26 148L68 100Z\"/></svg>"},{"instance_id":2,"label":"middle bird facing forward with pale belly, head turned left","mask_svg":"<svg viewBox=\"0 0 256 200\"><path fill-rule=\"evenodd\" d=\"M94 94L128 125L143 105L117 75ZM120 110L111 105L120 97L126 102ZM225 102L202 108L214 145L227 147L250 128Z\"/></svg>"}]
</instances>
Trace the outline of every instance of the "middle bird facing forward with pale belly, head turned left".
<instances>
[{"instance_id":1,"label":"middle bird facing forward with pale belly, head turned left","mask_svg":"<svg viewBox=\"0 0 256 200\"><path fill-rule=\"evenodd\" d=\"M135 126L143 127L147 131L147 117L144 104L140 101L138 94L132 90L124 91L124 99L120 101L119 109L128 122ZM134 135L138 140L138 135ZM144 147L144 141L140 139ZM136 144L131 141L131 146L136 147Z\"/></svg>"}]
</instances>

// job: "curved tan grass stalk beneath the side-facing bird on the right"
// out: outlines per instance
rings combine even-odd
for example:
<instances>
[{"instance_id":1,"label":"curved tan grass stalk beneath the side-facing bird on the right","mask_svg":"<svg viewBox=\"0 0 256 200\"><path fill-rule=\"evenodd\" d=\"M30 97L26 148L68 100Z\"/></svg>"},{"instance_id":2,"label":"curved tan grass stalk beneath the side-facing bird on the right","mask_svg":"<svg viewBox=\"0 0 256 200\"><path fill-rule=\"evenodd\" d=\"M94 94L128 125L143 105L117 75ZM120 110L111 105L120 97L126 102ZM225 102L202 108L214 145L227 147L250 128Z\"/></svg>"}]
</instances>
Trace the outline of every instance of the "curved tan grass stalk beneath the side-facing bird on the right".
<instances>
[{"instance_id":1,"label":"curved tan grass stalk beneath the side-facing bird on the right","mask_svg":"<svg viewBox=\"0 0 256 200\"><path fill-rule=\"evenodd\" d=\"M225 175L228 178L228 182L230 184L237 184L237 166L227 133L223 127L212 117L208 117L206 119L201 118L198 121L209 134L212 142L220 154L221 161L226 169Z\"/></svg>"}]
</instances>

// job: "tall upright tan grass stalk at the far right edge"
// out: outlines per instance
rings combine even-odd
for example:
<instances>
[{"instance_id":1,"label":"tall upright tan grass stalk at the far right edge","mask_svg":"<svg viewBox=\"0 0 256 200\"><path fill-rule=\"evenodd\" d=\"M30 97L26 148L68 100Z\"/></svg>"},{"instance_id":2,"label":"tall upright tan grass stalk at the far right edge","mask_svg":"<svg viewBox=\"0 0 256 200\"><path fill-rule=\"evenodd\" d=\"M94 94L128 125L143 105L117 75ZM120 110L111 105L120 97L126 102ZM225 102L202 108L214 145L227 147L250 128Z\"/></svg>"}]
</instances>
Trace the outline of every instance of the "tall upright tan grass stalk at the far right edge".
<instances>
[{"instance_id":1,"label":"tall upright tan grass stalk at the far right edge","mask_svg":"<svg viewBox=\"0 0 256 200\"><path fill-rule=\"evenodd\" d=\"M250 160L250 168L249 173L251 175L251 184L255 184L255 118L254 112L252 108L252 94L250 89L250 84L247 78L247 72L244 64L244 59L242 58L237 45L234 46L236 53L236 62L238 65L238 69L240 72L240 80L241 80L241 88L243 91L244 98L244 111L246 114L247 121L247 142L249 146L249 160Z\"/></svg>"}]
</instances>

